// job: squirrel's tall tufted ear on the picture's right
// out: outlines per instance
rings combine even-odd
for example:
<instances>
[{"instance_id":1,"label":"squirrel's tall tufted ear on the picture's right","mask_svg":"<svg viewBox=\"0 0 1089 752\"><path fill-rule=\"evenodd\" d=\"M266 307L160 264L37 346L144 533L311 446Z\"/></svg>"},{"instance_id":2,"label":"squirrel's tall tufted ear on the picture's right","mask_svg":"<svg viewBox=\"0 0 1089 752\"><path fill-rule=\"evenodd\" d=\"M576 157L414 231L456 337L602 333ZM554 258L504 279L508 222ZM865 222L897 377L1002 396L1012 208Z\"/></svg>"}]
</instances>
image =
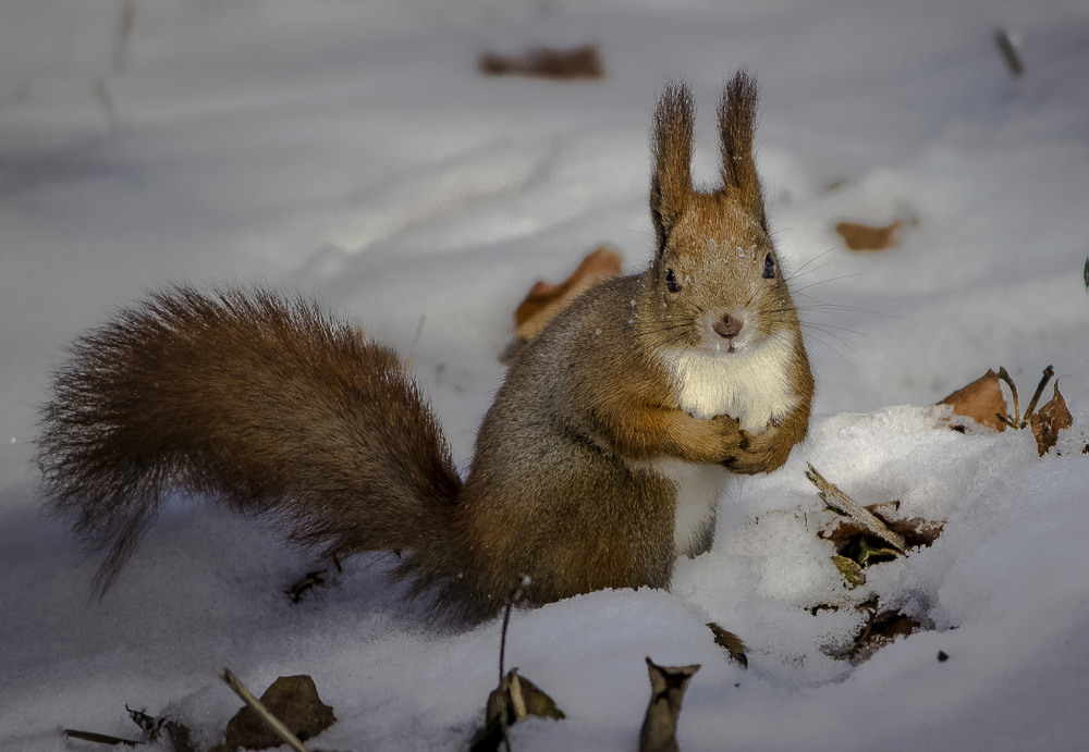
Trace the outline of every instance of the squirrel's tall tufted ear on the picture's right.
<instances>
[{"instance_id":1,"label":"squirrel's tall tufted ear on the picture's right","mask_svg":"<svg viewBox=\"0 0 1089 752\"><path fill-rule=\"evenodd\" d=\"M752 161L756 131L756 79L738 71L722 91L719 103L719 137L722 146L722 182L726 194L736 198L760 226L768 230L760 176Z\"/></svg>"}]
</instances>

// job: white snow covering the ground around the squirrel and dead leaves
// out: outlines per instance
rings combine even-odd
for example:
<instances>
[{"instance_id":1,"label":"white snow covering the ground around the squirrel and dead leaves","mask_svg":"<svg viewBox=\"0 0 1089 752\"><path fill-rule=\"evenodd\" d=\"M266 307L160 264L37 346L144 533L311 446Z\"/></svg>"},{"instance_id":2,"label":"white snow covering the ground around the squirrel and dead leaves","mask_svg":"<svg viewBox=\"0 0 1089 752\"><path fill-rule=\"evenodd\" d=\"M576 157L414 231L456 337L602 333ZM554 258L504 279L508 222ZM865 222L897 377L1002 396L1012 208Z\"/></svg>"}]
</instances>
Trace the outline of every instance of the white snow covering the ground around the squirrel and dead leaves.
<instances>
[{"instance_id":1,"label":"white snow covering the ground around the squirrel and dead leaves","mask_svg":"<svg viewBox=\"0 0 1089 752\"><path fill-rule=\"evenodd\" d=\"M810 439L731 485L713 550L680 562L670 592L514 615L509 665L567 714L515 727L515 745L633 749L650 655L702 665L686 750L1089 748L1084 3L135 0L121 45L123 7L0 11L0 748L90 749L62 728L135 737L126 703L210 742L238 707L224 666L257 690L310 674L340 718L321 748L463 748L497 682L499 624L425 624L380 556L292 605L281 591L311 559L179 498L91 600L95 563L38 510L50 369L148 288L260 279L405 354L423 319L414 369L465 467L533 282L601 242L632 270L649 259L663 82L693 86L695 172L711 182L714 103L743 64L818 379ZM1019 39L1020 79L999 26ZM485 49L584 41L601 47L600 82L475 70ZM842 219L906 225L894 248L852 254ZM949 431L926 407L999 366L1025 402L1051 362L1075 419L1060 456L1039 458L1027 431ZM829 513L807 463L861 503L946 520L932 547L866 570L859 590L929 629L858 666L822 651L865 614L815 534ZM748 643L748 670L711 620Z\"/></svg>"}]
</instances>

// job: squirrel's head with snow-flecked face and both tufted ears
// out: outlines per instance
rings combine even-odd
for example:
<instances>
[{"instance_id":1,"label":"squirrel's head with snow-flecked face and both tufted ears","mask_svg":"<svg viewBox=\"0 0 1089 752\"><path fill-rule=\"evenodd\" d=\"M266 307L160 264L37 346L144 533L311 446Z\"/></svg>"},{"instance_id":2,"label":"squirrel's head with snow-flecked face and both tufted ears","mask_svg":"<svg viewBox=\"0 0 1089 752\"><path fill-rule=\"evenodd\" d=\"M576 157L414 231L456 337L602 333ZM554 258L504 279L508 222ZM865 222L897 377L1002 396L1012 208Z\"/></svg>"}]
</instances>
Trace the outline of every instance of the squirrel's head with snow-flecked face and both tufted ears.
<instances>
[{"instance_id":1,"label":"squirrel's head with snow-flecked face and both tufted ears","mask_svg":"<svg viewBox=\"0 0 1089 752\"><path fill-rule=\"evenodd\" d=\"M798 325L752 161L756 103L756 82L738 72L719 104L723 184L712 193L692 183L688 87L666 86L654 113L650 213L658 249L648 282L658 310L648 312L677 344L741 352Z\"/></svg>"}]
</instances>

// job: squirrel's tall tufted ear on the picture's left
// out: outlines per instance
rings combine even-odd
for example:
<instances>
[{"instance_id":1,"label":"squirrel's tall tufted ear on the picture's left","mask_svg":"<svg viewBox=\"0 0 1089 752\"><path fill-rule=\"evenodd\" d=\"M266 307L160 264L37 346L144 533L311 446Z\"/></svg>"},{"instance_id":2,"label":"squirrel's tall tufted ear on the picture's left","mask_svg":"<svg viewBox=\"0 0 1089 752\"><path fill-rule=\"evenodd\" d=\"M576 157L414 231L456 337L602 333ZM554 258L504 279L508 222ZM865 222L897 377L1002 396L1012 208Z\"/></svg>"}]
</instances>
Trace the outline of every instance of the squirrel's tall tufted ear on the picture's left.
<instances>
[{"instance_id":1,"label":"squirrel's tall tufted ear on the picture's left","mask_svg":"<svg viewBox=\"0 0 1089 752\"><path fill-rule=\"evenodd\" d=\"M654 174L650 180L650 215L658 252L692 197L692 134L696 108L683 82L665 86L654 111Z\"/></svg>"}]
</instances>

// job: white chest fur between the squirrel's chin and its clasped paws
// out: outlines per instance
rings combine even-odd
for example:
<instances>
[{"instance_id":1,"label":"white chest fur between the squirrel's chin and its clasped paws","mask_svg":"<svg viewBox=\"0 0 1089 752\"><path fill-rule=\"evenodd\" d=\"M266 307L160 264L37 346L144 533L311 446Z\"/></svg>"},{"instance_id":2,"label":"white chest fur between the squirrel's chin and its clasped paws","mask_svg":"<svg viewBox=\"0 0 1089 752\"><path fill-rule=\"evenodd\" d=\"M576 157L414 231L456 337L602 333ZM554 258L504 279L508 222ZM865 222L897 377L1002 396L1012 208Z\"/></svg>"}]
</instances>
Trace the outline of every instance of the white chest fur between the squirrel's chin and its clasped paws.
<instances>
[{"instance_id":1,"label":"white chest fur between the squirrel's chin and its clasped paws","mask_svg":"<svg viewBox=\"0 0 1089 752\"><path fill-rule=\"evenodd\" d=\"M759 432L797 405L791 383L793 332L781 332L735 353L674 349L662 356L681 409L696 418L729 415Z\"/></svg>"}]
</instances>

